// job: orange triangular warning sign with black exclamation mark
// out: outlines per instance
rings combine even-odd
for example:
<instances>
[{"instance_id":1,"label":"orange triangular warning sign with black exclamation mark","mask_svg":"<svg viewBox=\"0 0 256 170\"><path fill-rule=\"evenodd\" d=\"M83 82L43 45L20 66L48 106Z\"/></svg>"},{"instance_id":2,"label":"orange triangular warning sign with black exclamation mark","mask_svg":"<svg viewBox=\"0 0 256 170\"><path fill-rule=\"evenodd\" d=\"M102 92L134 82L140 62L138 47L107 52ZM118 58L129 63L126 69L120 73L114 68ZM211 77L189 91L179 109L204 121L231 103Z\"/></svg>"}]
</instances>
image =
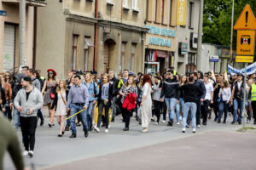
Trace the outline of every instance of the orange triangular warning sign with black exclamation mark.
<instances>
[{"instance_id":1,"label":"orange triangular warning sign with black exclamation mark","mask_svg":"<svg viewBox=\"0 0 256 170\"><path fill-rule=\"evenodd\" d=\"M256 19L249 4L243 8L239 18L236 20L234 30L256 30Z\"/></svg>"}]
</instances>

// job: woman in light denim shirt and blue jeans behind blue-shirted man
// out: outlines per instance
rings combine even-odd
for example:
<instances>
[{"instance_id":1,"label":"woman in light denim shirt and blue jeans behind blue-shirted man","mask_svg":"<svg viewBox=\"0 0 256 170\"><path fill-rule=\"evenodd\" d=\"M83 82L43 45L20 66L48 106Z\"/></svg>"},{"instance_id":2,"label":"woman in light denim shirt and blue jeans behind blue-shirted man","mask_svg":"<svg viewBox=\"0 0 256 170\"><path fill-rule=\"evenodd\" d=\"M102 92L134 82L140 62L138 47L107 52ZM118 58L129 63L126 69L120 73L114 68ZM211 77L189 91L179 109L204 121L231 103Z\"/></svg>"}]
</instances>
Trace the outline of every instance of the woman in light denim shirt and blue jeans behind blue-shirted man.
<instances>
[{"instance_id":1,"label":"woman in light denim shirt and blue jeans behind blue-shirted man","mask_svg":"<svg viewBox=\"0 0 256 170\"><path fill-rule=\"evenodd\" d=\"M96 105L97 95L99 94L99 88L96 82L92 81L92 77L90 72L85 73L85 83L84 85L88 88L89 93L89 106L88 109L85 111L85 115L87 116L87 124L89 126L89 131L92 130L92 111Z\"/></svg>"}]
</instances>

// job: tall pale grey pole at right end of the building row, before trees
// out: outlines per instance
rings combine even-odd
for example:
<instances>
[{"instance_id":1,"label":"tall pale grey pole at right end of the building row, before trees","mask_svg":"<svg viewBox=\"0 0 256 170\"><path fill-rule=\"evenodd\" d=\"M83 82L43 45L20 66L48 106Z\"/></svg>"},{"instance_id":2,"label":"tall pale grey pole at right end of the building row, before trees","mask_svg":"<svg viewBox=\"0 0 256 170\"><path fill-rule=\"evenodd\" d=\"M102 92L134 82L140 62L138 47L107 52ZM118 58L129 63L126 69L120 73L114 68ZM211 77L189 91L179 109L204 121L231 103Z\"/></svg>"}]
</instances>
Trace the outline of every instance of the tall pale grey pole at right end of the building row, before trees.
<instances>
[{"instance_id":1,"label":"tall pale grey pole at right end of the building row, before trees","mask_svg":"<svg viewBox=\"0 0 256 170\"><path fill-rule=\"evenodd\" d=\"M196 59L196 70L200 71L201 68L201 42L202 42L202 26L203 26L203 11L204 11L204 0L200 1L199 11L199 22L198 22L198 42L197 42L197 59Z\"/></svg>"}]
</instances>

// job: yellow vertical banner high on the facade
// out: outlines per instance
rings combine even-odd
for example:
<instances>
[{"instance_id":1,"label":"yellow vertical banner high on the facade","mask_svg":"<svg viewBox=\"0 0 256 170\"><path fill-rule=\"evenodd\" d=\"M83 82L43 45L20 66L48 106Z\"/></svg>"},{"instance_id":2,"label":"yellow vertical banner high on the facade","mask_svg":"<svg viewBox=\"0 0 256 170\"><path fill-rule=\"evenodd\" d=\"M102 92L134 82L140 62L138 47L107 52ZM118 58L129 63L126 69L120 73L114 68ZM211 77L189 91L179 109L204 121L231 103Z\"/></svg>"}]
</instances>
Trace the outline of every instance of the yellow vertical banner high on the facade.
<instances>
[{"instance_id":1,"label":"yellow vertical banner high on the facade","mask_svg":"<svg viewBox=\"0 0 256 170\"><path fill-rule=\"evenodd\" d=\"M186 26L187 0L177 0L177 26Z\"/></svg>"}]
</instances>

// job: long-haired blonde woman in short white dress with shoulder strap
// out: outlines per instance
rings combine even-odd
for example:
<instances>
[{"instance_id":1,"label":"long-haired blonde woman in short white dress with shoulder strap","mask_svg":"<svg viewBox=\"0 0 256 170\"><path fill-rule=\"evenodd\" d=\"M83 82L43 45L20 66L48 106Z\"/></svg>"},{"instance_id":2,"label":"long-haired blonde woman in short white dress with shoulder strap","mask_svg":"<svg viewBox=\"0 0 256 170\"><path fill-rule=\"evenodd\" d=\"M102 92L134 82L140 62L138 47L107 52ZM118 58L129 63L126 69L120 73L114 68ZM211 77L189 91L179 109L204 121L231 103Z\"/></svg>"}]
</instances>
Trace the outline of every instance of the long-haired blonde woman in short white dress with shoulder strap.
<instances>
[{"instance_id":1,"label":"long-haired blonde woman in short white dress with shoulder strap","mask_svg":"<svg viewBox=\"0 0 256 170\"><path fill-rule=\"evenodd\" d=\"M65 117L67 116L67 85L65 81L60 81L55 92L55 99L51 109L55 108L55 116L57 116L57 122L61 126L58 137L62 137L65 132ZM56 106L56 107L55 107Z\"/></svg>"}]
</instances>

